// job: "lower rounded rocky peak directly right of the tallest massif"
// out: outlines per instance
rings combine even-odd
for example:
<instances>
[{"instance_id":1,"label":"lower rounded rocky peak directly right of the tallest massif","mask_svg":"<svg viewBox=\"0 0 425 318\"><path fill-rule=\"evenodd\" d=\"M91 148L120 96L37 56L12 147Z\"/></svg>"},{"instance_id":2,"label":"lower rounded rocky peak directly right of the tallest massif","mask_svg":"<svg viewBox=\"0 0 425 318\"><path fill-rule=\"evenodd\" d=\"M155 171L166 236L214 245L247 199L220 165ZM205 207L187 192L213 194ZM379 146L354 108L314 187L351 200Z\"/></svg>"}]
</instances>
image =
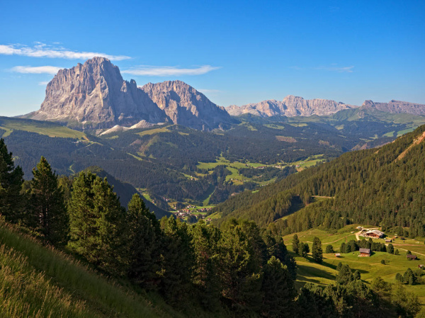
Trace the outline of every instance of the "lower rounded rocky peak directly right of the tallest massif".
<instances>
[{"instance_id":1,"label":"lower rounded rocky peak directly right of the tallest massif","mask_svg":"<svg viewBox=\"0 0 425 318\"><path fill-rule=\"evenodd\" d=\"M211 130L228 127L234 122L225 108L215 105L183 81L148 83L141 89L175 124Z\"/></svg>"}]
</instances>

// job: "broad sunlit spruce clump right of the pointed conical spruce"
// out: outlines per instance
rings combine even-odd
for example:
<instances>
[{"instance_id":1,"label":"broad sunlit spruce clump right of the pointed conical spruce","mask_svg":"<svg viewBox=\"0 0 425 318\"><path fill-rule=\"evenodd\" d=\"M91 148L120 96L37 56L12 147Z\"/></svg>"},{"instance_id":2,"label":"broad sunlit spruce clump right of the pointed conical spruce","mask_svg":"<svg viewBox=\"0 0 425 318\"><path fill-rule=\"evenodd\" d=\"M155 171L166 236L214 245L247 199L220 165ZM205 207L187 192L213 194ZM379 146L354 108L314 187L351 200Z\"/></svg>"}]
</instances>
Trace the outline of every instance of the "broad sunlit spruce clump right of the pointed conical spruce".
<instances>
[{"instance_id":1,"label":"broad sunlit spruce clump right of the pointed conical spruce","mask_svg":"<svg viewBox=\"0 0 425 318\"><path fill-rule=\"evenodd\" d=\"M72 184L69 247L115 276L125 271L125 211L108 181L90 171Z\"/></svg>"}]
</instances>

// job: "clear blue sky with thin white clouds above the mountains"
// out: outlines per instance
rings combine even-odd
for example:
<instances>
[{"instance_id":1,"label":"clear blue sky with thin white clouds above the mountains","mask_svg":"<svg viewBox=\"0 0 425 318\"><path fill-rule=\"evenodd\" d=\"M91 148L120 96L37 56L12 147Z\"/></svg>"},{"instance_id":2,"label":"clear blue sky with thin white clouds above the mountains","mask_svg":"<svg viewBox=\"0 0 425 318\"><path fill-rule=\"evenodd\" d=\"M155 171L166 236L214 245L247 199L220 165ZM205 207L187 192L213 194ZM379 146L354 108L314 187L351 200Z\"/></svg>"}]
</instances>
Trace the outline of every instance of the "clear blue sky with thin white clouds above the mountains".
<instances>
[{"instance_id":1,"label":"clear blue sky with thin white clouds above the mountains","mask_svg":"<svg viewBox=\"0 0 425 318\"><path fill-rule=\"evenodd\" d=\"M425 1L2 1L0 115L37 110L58 68L111 57L220 106L289 94L425 103Z\"/></svg>"}]
</instances>

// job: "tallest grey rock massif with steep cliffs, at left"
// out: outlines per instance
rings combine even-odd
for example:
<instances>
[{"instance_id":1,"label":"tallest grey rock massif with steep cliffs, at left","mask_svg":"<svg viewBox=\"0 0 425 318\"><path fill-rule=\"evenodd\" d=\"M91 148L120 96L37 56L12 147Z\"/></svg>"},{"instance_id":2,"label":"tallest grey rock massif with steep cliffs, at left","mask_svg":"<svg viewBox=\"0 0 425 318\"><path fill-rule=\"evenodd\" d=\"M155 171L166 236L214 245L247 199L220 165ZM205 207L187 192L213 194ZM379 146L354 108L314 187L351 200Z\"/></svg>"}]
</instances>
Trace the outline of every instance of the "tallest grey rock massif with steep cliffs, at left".
<instances>
[{"instance_id":1,"label":"tallest grey rock massif with steep cliffs, at left","mask_svg":"<svg viewBox=\"0 0 425 318\"><path fill-rule=\"evenodd\" d=\"M45 101L33 119L56 120L86 128L134 125L166 120L134 80L124 81L118 67L94 57L72 69L61 69L47 84Z\"/></svg>"}]
</instances>

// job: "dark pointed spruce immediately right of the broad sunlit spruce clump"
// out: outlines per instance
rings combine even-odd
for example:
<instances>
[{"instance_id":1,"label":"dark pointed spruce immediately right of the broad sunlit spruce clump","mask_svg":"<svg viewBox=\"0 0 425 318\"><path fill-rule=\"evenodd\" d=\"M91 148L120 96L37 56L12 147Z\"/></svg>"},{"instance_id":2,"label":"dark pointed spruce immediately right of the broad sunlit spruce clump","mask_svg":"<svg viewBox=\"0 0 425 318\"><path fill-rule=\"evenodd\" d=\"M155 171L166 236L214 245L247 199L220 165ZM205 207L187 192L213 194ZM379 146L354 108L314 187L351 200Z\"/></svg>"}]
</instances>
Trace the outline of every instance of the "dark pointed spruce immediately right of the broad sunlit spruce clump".
<instances>
[{"instance_id":1,"label":"dark pointed spruce immediately right of the broad sunlit spruce clump","mask_svg":"<svg viewBox=\"0 0 425 318\"><path fill-rule=\"evenodd\" d=\"M162 232L157 217L137 193L128 203L126 232L128 277L145 289L155 288L161 269Z\"/></svg>"}]
</instances>

